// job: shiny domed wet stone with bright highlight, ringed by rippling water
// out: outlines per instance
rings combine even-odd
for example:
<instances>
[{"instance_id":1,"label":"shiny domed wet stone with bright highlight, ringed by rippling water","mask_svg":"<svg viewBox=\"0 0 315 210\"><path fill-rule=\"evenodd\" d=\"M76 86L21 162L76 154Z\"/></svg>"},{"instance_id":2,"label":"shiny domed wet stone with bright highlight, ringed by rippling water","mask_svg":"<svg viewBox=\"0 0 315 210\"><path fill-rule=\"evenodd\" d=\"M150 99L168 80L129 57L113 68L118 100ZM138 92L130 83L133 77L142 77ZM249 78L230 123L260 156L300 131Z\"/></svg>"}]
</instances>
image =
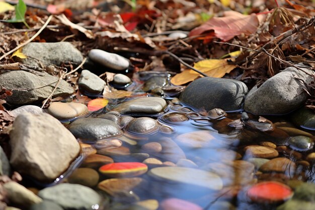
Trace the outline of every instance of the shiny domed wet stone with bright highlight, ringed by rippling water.
<instances>
[{"instance_id":1,"label":"shiny domed wet stone with bright highlight, ringed by rippling water","mask_svg":"<svg viewBox=\"0 0 315 210\"><path fill-rule=\"evenodd\" d=\"M129 122L126 130L135 134L151 134L159 130L160 124L149 117L135 118Z\"/></svg>"}]
</instances>

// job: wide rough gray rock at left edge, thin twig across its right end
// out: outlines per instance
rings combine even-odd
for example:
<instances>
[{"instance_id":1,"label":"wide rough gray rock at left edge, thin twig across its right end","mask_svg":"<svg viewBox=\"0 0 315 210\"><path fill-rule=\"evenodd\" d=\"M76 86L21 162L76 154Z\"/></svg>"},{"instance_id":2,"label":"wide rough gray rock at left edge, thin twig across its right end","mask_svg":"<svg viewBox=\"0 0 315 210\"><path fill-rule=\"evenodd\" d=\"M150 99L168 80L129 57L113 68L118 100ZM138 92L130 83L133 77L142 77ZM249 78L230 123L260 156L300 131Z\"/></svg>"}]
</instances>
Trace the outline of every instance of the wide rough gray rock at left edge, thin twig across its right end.
<instances>
[{"instance_id":1,"label":"wide rough gray rock at left edge, thin twig across its right end","mask_svg":"<svg viewBox=\"0 0 315 210\"><path fill-rule=\"evenodd\" d=\"M25 71L9 71L0 74L0 87L3 87L7 90L28 89L13 90L13 94L8 96L6 101L12 105L25 105L40 103L41 101L48 98L55 88L58 78L45 72L41 74L42 76L39 76ZM58 88L53 93L52 98L57 96L66 97L72 93L74 93L73 88L71 88L66 81L61 80Z\"/></svg>"}]
</instances>

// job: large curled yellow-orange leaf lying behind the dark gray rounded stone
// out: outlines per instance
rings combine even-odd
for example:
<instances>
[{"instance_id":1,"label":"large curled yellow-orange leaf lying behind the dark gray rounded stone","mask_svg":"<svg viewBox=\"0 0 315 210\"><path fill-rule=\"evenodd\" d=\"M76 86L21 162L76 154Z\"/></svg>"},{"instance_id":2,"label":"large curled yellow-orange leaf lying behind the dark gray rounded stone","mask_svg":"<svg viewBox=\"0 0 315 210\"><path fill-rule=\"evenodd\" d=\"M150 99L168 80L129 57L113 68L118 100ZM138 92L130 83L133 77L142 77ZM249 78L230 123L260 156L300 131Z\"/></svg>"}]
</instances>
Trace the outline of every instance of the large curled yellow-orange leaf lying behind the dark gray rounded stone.
<instances>
[{"instance_id":1,"label":"large curled yellow-orange leaf lying behind the dark gray rounded stone","mask_svg":"<svg viewBox=\"0 0 315 210\"><path fill-rule=\"evenodd\" d=\"M208 59L195 63L194 67L209 77L221 78L225 74L230 73L235 68L235 65L228 64L227 59ZM183 85L194 81L200 76L193 70L185 70L175 75L171 82L173 85Z\"/></svg>"}]
</instances>

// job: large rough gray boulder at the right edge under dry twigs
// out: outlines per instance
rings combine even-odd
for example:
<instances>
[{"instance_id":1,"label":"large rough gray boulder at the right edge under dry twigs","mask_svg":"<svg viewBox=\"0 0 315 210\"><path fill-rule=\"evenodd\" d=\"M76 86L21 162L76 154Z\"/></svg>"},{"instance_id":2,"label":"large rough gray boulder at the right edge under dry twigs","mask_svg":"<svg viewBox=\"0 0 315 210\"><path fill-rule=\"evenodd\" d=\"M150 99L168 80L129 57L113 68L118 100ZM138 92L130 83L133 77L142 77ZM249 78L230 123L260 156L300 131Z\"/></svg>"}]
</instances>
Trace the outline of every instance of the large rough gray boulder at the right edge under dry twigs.
<instances>
[{"instance_id":1,"label":"large rough gray boulder at the right edge under dry twigs","mask_svg":"<svg viewBox=\"0 0 315 210\"><path fill-rule=\"evenodd\" d=\"M299 64L305 72L315 75L306 65ZM307 85L314 76L288 67L267 80L259 88L255 86L245 98L244 109L253 114L286 114L301 106L307 99Z\"/></svg>"}]
</instances>

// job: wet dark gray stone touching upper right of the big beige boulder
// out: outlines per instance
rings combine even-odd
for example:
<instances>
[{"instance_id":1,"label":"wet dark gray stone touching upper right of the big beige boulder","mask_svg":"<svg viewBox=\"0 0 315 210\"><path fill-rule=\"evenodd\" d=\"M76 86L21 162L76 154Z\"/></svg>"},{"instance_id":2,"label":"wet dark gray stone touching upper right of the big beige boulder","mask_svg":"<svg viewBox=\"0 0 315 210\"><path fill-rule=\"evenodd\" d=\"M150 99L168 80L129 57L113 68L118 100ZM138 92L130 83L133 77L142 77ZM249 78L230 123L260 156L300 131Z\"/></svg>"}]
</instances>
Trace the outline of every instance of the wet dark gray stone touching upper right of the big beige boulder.
<instances>
[{"instance_id":1,"label":"wet dark gray stone touching upper right of the big beige boulder","mask_svg":"<svg viewBox=\"0 0 315 210\"><path fill-rule=\"evenodd\" d=\"M115 122L92 117L77 119L68 126L68 129L76 138L83 141L97 141L123 134Z\"/></svg>"}]
</instances>

